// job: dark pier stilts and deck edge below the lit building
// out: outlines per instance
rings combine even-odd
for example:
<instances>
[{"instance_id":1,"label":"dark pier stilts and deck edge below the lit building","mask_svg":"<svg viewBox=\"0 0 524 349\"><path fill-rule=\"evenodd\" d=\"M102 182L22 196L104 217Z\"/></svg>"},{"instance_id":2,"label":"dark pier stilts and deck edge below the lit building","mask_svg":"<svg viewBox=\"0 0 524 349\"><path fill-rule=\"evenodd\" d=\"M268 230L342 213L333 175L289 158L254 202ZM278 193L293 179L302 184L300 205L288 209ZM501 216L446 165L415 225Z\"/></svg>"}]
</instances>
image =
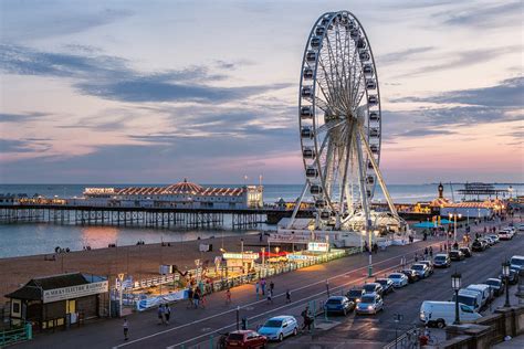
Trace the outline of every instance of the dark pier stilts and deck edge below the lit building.
<instances>
[{"instance_id":1,"label":"dark pier stilts and deck edge below the lit building","mask_svg":"<svg viewBox=\"0 0 524 349\"><path fill-rule=\"evenodd\" d=\"M0 224L54 223L75 225L116 225L142 228L187 228L241 230L262 223L276 223L292 211L260 209L193 209L155 207L93 207L67 204L0 205ZM303 216L313 216L305 211Z\"/></svg>"}]
</instances>

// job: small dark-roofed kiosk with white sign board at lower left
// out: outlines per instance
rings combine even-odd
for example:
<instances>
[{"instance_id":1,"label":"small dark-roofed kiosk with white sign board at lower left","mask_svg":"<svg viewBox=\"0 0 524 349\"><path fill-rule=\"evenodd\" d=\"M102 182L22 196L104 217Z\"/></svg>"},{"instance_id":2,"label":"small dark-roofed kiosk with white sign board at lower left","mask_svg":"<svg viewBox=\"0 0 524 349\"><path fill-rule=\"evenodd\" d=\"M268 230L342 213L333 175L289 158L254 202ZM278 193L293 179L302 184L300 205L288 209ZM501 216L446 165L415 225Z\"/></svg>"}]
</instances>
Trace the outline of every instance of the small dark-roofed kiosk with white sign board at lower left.
<instances>
[{"instance_id":1,"label":"small dark-roofed kiosk with white sign board at lower left","mask_svg":"<svg viewBox=\"0 0 524 349\"><path fill-rule=\"evenodd\" d=\"M101 296L107 292L106 278L71 273L33 278L6 297L12 325L29 321L45 330L98 317Z\"/></svg>"}]
</instances>

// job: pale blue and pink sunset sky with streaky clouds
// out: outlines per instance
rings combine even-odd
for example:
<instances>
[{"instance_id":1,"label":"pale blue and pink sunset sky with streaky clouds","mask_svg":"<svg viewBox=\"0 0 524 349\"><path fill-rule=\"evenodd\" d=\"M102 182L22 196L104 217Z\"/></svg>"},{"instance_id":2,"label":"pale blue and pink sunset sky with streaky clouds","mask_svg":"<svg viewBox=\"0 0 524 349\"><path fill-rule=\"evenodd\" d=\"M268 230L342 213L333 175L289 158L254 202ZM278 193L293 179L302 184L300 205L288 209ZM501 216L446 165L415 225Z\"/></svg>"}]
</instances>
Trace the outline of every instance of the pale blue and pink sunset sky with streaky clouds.
<instances>
[{"instance_id":1,"label":"pale blue and pink sunset sky with streaky clouds","mask_svg":"<svg viewBox=\"0 0 524 349\"><path fill-rule=\"evenodd\" d=\"M344 9L388 182L524 182L523 2L421 0L1 1L0 182L303 182L302 54Z\"/></svg>"}]
</instances>

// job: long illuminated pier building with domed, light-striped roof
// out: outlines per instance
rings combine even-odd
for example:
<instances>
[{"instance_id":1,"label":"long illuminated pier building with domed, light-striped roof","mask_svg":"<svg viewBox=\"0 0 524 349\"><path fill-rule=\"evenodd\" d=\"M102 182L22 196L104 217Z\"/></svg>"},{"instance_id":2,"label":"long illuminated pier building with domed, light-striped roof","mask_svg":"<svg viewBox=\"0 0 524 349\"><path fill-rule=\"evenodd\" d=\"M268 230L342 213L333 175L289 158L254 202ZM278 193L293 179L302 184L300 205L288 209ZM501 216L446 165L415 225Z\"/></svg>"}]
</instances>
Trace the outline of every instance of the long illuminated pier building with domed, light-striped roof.
<instances>
[{"instance_id":1,"label":"long illuminated pier building with domed, light-striped roof","mask_svg":"<svg viewBox=\"0 0 524 349\"><path fill-rule=\"evenodd\" d=\"M72 204L188 209L254 209L263 207L263 187L202 187L186 179L166 187L85 188Z\"/></svg>"}]
</instances>

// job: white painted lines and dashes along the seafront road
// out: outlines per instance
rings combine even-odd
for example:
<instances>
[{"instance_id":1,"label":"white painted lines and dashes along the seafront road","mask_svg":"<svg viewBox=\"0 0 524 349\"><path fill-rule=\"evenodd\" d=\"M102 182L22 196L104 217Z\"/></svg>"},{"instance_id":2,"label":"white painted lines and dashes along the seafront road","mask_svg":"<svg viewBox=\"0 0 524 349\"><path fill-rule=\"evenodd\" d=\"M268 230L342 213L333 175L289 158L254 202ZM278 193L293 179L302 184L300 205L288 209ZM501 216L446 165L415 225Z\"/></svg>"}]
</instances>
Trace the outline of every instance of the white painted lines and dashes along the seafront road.
<instances>
[{"instance_id":1,"label":"white painted lines and dashes along the seafront road","mask_svg":"<svg viewBox=\"0 0 524 349\"><path fill-rule=\"evenodd\" d=\"M431 246L432 246L432 245L438 245L438 244L440 244L440 243L441 243L441 242L436 242L436 243L431 244ZM425 247L427 247L427 246L425 246ZM421 248L411 251L411 252L409 252L409 254L412 254L412 253L418 252L418 251L422 251L425 247L421 247ZM380 261L380 262L377 262L377 263L373 263L371 265L373 265L373 266L377 266L377 265L379 265L379 264L382 264L382 263L386 263L386 262L389 262L389 261L392 261L392 260L398 260L398 258L401 257L401 256L406 256L406 254L407 254L407 253L400 253L400 254L398 254L398 255L396 255L396 256L386 258L386 260L384 260L384 261ZM349 256L348 256L348 257L349 257ZM412 261L412 260L408 260L408 261L406 261L406 262L410 262L410 261ZM395 267L397 267L397 266L399 266L399 264L398 264L398 265L395 265ZM344 275L349 274L349 273L355 273L355 272L357 272L357 271L365 271L365 269L367 269L367 267L368 267L367 265L366 265L366 266L363 266L363 267L358 267L358 268L356 268L356 269L354 269L354 271L352 271L352 272L344 272L344 273L342 273L342 274L338 274L338 275L328 277L327 279L331 281L331 279L335 279L335 278L343 277ZM367 276L360 277L360 278L358 278L358 279L366 279L366 278L367 278ZM304 286L302 286L302 287L292 289L291 292L292 292L292 293L295 293L295 292L297 292L297 290L302 290L302 289L304 289L304 288L308 288L308 287L316 286L316 285L324 284L324 283L325 283L325 281L323 279L323 281L319 281L319 282L316 282L316 283L313 283L313 284L304 285ZM349 282L349 283L347 283L347 284L350 284L350 283L352 283L352 282ZM342 286L347 286L347 284L342 285ZM339 288L339 287L340 287L340 286L334 287L334 289ZM324 293L325 293L325 292L322 292L321 294L324 294ZM282 296L284 296L284 295L285 295L285 293L277 294L277 295L274 296L274 298L282 297ZM308 297L308 298L311 298L311 297ZM305 298L305 299L307 299L307 298ZM261 299L261 300L253 302L253 303L249 303L249 304L245 304L245 305L239 305L239 307L240 307L240 309L244 309L245 307L254 306L254 305L256 305L256 304L262 304L262 303L265 303L265 302L266 302L265 299ZM296 302L292 302L291 304L293 304L293 303L296 303ZM287 306L291 305L291 304L287 304ZM277 310L277 309L279 309L279 308L276 308L276 309L274 309L274 310ZM171 331L175 331L175 330L178 330L178 329L188 327L188 326L192 326L192 325L196 325L196 324L199 324L199 322L203 322L203 321L207 321L207 320L210 320L210 319L213 319L213 318L223 316L223 315L229 314L229 313L234 313L234 311L237 311L235 308L232 308L232 309L227 310L227 311L218 313L218 314L214 314L214 315L211 315L211 316L208 316L208 317L205 317L205 318L201 318L201 319L191 321L191 322L187 322L187 324L184 324L184 325L180 325L180 326L177 326L177 327L172 327L172 328L169 328L169 329L166 329L166 330L163 330L163 331L158 331L158 332L155 332L155 334L151 334L151 335L147 335L147 336L144 336L144 337L140 337L140 338L137 338L137 339L134 339L134 340L130 340L130 341L120 343L120 345L118 345L118 346L114 346L113 349L126 347L126 346L129 346L129 345L133 345L133 343L143 341L143 340L146 340L146 339L149 339L149 338L153 338L153 337L157 337L157 336L160 336L160 335L164 335L164 334L168 334L168 332L171 332ZM220 330L222 330L222 329L224 329L224 328L228 328L228 327L230 327L230 326L231 326L231 325L228 325L228 326L226 326L226 327L219 328L219 329L217 329L216 331L220 331ZM200 336L200 337L201 337L201 336ZM197 338L198 338L198 337L197 337ZM193 338L193 339L195 339L195 338ZM192 340L193 340L193 339L192 339ZM176 345L176 346L180 346L180 345L181 345L181 343L178 343L178 345ZM168 347L168 348L172 348L172 347L175 347L175 346L171 346L171 347Z\"/></svg>"}]
</instances>

